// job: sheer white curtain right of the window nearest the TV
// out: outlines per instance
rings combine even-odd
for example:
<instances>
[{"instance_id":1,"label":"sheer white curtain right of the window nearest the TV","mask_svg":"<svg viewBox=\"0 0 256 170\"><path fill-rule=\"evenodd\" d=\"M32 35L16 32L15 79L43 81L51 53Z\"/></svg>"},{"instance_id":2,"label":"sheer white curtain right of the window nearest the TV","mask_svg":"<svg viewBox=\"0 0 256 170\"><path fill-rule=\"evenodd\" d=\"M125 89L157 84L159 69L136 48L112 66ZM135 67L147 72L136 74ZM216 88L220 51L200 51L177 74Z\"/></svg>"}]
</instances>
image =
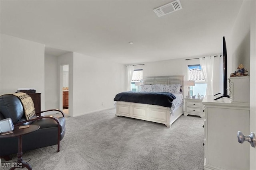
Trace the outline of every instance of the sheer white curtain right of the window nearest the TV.
<instances>
[{"instance_id":1,"label":"sheer white curtain right of the window nearest the TV","mask_svg":"<svg viewBox=\"0 0 256 170\"><path fill-rule=\"evenodd\" d=\"M213 95L213 68L214 57L200 58L200 65L204 74L204 80L207 84L206 95Z\"/></svg>"}]
</instances>

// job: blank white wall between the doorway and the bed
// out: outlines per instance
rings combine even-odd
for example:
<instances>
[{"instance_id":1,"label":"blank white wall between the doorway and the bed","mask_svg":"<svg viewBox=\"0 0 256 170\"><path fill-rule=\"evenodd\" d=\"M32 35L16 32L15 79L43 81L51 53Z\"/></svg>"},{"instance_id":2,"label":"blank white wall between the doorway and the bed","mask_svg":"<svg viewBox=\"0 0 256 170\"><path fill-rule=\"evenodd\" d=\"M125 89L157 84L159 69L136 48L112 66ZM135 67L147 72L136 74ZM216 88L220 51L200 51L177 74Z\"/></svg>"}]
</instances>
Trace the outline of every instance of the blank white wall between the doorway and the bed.
<instances>
[{"instance_id":1,"label":"blank white wall between the doorway and the bed","mask_svg":"<svg viewBox=\"0 0 256 170\"><path fill-rule=\"evenodd\" d=\"M74 114L114 107L114 97L124 91L123 64L74 53Z\"/></svg>"}]
</instances>

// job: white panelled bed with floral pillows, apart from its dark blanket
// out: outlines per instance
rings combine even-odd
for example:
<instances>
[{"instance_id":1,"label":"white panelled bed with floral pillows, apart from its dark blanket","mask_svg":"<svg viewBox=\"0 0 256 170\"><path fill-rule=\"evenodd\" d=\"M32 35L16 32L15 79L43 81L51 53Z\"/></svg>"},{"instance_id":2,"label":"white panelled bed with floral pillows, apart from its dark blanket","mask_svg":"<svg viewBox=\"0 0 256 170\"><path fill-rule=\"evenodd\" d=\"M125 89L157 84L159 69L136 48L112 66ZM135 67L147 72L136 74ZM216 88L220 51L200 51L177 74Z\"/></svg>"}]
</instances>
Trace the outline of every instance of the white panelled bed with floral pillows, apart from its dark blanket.
<instances>
[{"instance_id":1,"label":"white panelled bed with floral pillows, apart from its dark blanket","mask_svg":"<svg viewBox=\"0 0 256 170\"><path fill-rule=\"evenodd\" d=\"M162 92L162 89L156 89L159 87L165 87L164 92L168 92L167 87L180 85L178 91L175 90L173 91L175 93L172 93L175 96L175 99L172 101L172 105L166 107L155 104L125 102L115 100L115 98L116 117L131 117L135 119L162 123L167 127L171 127L172 123L174 123L174 121L176 121L183 114L183 82L184 75L143 77L142 91ZM153 87L155 91L152 90Z\"/></svg>"}]
</instances>

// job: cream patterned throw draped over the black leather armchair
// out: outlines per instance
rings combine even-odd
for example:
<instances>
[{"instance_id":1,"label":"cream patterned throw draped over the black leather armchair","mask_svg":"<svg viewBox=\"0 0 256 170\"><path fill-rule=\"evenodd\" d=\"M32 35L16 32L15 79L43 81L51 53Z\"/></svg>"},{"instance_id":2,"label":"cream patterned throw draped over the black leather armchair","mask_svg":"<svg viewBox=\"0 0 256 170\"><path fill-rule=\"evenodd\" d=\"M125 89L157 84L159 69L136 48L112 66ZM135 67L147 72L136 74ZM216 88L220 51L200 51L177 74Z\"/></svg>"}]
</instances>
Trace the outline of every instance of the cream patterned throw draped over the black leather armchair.
<instances>
[{"instance_id":1,"label":"cream patterned throw draped over the black leather armchair","mask_svg":"<svg viewBox=\"0 0 256 170\"><path fill-rule=\"evenodd\" d=\"M30 117L32 117L36 114L34 102L28 94L18 92L18 93L14 93L12 95L17 96L20 99L20 102L22 103L25 117L27 120L29 120Z\"/></svg>"}]
</instances>

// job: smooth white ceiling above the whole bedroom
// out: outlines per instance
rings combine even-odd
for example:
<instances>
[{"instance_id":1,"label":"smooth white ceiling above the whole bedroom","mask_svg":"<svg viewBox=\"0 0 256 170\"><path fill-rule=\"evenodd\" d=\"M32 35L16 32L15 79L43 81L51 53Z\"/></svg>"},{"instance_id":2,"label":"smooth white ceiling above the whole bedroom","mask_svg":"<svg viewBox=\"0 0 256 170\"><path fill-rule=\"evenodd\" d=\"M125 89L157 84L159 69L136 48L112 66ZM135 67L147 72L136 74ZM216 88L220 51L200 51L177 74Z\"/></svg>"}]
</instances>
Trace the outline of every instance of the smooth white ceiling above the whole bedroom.
<instances>
[{"instance_id":1,"label":"smooth white ceiling above the whole bedroom","mask_svg":"<svg viewBox=\"0 0 256 170\"><path fill-rule=\"evenodd\" d=\"M154 13L172 1L1 0L0 32L45 44L46 54L122 64L220 54L243 0L180 0L181 10Z\"/></svg>"}]
</instances>

